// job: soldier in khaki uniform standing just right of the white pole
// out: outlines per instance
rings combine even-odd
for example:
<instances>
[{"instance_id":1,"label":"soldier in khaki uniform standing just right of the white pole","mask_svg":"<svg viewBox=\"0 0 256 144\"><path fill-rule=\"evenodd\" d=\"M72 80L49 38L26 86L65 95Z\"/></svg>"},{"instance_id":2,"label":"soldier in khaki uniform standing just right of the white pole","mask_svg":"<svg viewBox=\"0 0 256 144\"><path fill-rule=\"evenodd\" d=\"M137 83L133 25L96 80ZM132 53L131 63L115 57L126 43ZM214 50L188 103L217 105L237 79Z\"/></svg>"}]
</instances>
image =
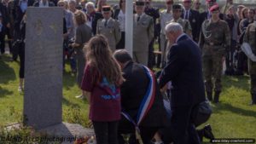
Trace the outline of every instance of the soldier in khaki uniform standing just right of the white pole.
<instances>
[{"instance_id":1,"label":"soldier in khaki uniform standing just right of the white pole","mask_svg":"<svg viewBox=\"0 0 256 144\"><path fill-rule=\"evenodd\" d=\"M145 2L137 0L133 18L133 59L148 66L148 45L154 37L154 21L144 13Z\"/></svg>"}]
</instances>

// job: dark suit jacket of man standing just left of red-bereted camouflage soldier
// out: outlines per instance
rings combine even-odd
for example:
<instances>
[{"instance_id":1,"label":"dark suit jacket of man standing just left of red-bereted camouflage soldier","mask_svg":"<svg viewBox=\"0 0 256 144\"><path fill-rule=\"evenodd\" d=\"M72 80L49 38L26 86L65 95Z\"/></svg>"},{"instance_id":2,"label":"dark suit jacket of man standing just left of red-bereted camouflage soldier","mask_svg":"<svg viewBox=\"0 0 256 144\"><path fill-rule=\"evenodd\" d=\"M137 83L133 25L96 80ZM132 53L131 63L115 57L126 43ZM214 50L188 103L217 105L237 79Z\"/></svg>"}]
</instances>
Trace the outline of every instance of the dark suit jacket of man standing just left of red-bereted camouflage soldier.
<instances>
[{"instance_id":1,"label":"dark suit jacket of man standing just left of red-bereted camouflage soldier","mask_svg":"<svg viewBox=\"0 0 256 144\"><path fill-rule=\"evenodd\" d=\"M182 18L183 18L182 14ZM195 11L194 9L190 9L189 12L189 23L190 26L192 28L192 36L195 42L198 42L199 40L199 34L200 34L200 30L201 30L201 26L200 26L200 14L198 11Z\"/></svg>"}]
</instances>

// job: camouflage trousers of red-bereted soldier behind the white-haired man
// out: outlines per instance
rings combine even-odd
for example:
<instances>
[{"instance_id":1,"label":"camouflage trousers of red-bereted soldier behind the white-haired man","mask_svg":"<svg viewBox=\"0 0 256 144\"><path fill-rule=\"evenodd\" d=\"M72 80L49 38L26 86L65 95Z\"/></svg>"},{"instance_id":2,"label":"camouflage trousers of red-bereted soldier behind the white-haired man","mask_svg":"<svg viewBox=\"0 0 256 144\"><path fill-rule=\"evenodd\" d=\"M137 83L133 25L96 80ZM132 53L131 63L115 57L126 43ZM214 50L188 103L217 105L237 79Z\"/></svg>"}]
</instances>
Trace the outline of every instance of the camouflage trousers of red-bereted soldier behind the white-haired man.
<instances>
[{"instance_id":1,"label":"camouflage trousers of red-bereted soldier behind the white-haired man","mask_svg":"<svg viewBox=\"0 0 256 144\"><path fill-rule=\"evenodd\" d=\"M223 56L218 53L212 53L212 55L203 55L202 63L203 63L203 74L205 78L205 86L207 92L221 91L221 75L223 69ZM214 84L213 84L213 83ZM213 86L214 85L214 86Z\"/></svg>"}]
</instances>

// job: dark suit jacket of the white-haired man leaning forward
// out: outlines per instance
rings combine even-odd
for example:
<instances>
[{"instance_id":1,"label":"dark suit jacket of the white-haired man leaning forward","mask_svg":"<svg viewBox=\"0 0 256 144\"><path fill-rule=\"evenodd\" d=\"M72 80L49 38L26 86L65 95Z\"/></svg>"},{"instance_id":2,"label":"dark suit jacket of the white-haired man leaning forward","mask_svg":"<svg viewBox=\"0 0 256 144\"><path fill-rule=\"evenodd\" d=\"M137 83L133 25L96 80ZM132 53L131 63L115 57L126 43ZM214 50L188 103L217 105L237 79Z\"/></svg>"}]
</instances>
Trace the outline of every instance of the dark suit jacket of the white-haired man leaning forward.
<instances>
[{"instance_id":1,"label":"dark suit jacket of the white-haired man leaning forward","mask_svg":"<svg viewBox=\"0 0 256 144\"><path fill-rule=\"evenodd\" d=\"M172 45L160 88L172 81L171 107L194 106L206 100L202 75L201 50L187 35Z\"/></svg>"}]
</instances>

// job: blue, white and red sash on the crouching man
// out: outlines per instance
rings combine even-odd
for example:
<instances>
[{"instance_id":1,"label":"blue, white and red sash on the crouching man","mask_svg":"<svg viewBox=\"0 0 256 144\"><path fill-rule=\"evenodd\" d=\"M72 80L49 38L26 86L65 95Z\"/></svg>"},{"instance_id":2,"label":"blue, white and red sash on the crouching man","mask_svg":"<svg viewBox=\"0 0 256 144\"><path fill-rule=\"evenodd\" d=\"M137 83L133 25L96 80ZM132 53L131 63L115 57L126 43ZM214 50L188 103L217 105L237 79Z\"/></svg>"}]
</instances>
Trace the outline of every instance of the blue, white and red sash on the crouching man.
<instances>
[{"instance_id":1,"label":"blue, white and red sash on the crouching man","mask_svg":"<svg viewBox=\"0 0 256 144\"><path fill-rule=\"evenodd\" d=\"M143 101L141 102L141 105L139 107L138 113L137 113L137 122L135 122L131 116L126 112L121 112L121 114L128 119L132 124L135 126L137 139L142 144L143 141L140 137L140 130L139 125L142 123L143 118L146 117L148 114L149 109L152 107L155 97L155 78L154 78L154 72L152 72L150 69L148 69L147 66L143 66L145 72L147 73L149 83L148 83L148 89L146 94L143 97Z\"/></svg>"}]
</instances>

